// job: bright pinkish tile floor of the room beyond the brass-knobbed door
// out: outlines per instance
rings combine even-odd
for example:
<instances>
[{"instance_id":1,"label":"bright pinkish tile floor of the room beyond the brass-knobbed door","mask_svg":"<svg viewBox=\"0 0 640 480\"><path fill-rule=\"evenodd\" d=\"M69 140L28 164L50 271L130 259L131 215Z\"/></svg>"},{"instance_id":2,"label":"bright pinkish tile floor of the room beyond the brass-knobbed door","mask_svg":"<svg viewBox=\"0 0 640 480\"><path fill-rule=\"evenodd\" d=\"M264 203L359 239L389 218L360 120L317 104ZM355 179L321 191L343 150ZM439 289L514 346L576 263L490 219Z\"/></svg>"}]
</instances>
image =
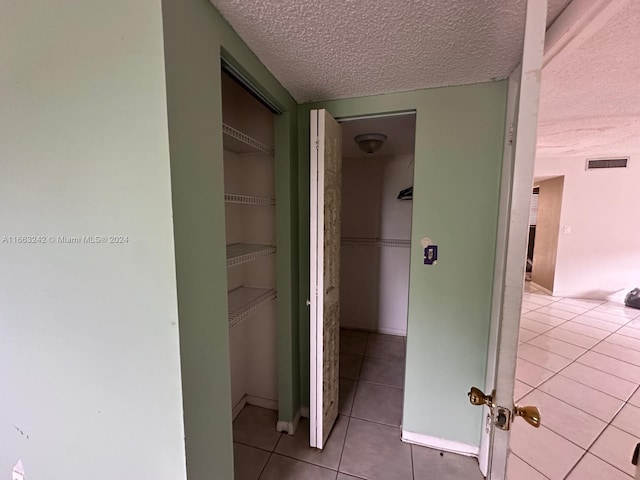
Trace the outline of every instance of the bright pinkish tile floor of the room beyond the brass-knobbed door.
<instances>
[{"instance_id":1,"label":"bright pinkish tile floor of the room beyond the brass-knobbed door","mask_svg":"<svg viewBox=\"0 0 640 480\"><path fill-rule=\"evenodd\" d=\"M631 480L639 385L640 310L527 283L515 396L542 426L513 424L509 480Z\"/></svg>"}]
</instances>

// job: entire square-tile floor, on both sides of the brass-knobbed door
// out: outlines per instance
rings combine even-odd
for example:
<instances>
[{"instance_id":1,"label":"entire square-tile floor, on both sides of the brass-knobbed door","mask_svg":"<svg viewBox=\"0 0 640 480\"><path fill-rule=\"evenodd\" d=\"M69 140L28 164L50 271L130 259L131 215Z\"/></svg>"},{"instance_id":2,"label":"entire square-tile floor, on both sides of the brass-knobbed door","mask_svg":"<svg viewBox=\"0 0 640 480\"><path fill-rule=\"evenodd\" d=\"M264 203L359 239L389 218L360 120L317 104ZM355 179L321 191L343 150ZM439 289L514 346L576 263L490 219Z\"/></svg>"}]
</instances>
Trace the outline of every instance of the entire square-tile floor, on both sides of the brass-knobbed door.
<instances>
[{"instance_id":1,"label":"entire square-tile floor, on both sides of the brass-knobbed door","mask_svg":"<svg viewBox=\"0 0 640 480\"><path fill-rule=\"evenodd\" d=\"M527 283L515 397L542 426L516 421L509 480L631 480L640 443L640 310L550 297ZM477 461L400 441L405 341L340 337L340 416L320 452L309 424L274 430L276 413L247 406L234 422L236 480L475 480Z\"/></svg>"}]
</instances>

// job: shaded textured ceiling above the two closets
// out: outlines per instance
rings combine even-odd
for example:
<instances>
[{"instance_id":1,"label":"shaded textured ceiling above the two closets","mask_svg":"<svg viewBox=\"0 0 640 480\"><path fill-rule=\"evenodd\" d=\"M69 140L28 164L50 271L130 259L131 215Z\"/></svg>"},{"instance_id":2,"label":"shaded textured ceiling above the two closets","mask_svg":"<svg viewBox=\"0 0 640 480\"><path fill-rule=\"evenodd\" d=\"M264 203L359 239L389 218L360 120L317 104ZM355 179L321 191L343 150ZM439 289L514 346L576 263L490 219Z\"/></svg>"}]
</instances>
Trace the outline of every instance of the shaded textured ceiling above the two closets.
<instances>
[{"instance_id":1,"label":"shaded textured ceiling above the two closets","mask_svg":"<svg viewBox=\"0 0 640 480\"><path fill-rule=\"evenodd\" d=\"M525 0L211 1L298 102L505 78L522 49Z\"/></svg>"}]
</instances>

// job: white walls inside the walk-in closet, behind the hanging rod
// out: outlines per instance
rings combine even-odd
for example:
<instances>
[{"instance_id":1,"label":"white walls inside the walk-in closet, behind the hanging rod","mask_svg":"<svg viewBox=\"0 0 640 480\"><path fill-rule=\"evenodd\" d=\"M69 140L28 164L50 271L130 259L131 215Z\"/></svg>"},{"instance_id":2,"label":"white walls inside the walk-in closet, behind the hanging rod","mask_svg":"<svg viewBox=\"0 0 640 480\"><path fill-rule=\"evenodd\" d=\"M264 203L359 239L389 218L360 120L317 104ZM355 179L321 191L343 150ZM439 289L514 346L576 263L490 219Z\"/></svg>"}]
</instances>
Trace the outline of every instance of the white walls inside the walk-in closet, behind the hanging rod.
<instances>
[{"instance_id":1,"label":"white walls inside the walk-in closet, behind the hanging rod","mask_svg":"<svg viewBox=\"0 0 640 480\"><path fill-rule=\"evenodd\" d=\"M409 240L411 201L397 199L413 182L413 157L345 158L342 171L341 325L406 335L406 247L366 240Z\"/></svg>"}]
</instances>

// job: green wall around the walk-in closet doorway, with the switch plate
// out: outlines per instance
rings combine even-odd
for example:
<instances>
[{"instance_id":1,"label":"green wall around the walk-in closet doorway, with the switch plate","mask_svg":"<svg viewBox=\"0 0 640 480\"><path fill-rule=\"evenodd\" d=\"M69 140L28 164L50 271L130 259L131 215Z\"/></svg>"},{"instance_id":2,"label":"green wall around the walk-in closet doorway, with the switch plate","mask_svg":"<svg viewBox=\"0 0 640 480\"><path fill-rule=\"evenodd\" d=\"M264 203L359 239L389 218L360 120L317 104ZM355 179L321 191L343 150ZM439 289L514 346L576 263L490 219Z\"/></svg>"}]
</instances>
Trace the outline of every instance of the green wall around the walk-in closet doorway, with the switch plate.
<instances>
[{"instance_id":1,"label":"green wall around the walk-in closet doorway, with the switch plate","mask_svg":"<svg viewBox=\"0 0 640 480\"><path fill-rule=\"evenodd\" d=\"M351 98L299 108L300 395L309 404L309 110L334 117L416 111L414 200L403 429L479 445L490 327L507 84ZM349 141L348 139L346 141ZM422 263L423 237L439 246Z\"/></svg>"}]
</instances>

